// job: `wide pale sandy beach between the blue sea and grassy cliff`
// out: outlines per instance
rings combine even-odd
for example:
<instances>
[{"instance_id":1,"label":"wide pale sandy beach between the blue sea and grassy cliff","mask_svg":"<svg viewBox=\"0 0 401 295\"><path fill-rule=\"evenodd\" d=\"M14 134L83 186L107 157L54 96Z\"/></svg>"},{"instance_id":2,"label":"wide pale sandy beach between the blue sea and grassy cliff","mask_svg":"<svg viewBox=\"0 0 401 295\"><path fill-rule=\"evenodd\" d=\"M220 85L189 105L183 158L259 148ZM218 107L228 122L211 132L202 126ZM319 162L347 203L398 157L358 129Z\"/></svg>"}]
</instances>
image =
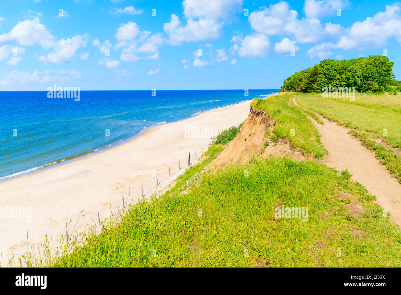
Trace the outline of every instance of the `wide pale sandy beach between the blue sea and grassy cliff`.
<instances>
[{"instance_id":1,"label":"wide pale sandy beach between the blue sea and grassy cliff","mask_svg":"<svg viewBox=\"0 0 401 295\"><path fill-rule=\"evenodd\" d=\"M201 156L207 150L210 137L199 136L191 126L213 132L238 125L249 114L250 101L218 108L179 122L155 126L144 134L101 153L89 155L58 167L23 175L0 183L0 207L32 208L32 219L5 218L0 222L0 259L4 267L14 254L18 256L35 243L43 242L45 236L57 240L68 230L73 232L83 225L97 223L97 213L104 220L107 212L135 202L127 201L132 195L149 193L156 187L156 176L162 189L187 167L186 157L191 153ZM203 132L201 132L202 134ZM205 132L207 133L207 132ZM214 135L214 134L212 134ZM171 167L171 177L168 168ZM83 218L85 216L85 220ZM75 223L77 223L75 225ZM28 231L28 239L26 232ZM35 246L36 247L36 246ZM23 265L24 266L24 265Z\"/></svg>"}]
</instances>

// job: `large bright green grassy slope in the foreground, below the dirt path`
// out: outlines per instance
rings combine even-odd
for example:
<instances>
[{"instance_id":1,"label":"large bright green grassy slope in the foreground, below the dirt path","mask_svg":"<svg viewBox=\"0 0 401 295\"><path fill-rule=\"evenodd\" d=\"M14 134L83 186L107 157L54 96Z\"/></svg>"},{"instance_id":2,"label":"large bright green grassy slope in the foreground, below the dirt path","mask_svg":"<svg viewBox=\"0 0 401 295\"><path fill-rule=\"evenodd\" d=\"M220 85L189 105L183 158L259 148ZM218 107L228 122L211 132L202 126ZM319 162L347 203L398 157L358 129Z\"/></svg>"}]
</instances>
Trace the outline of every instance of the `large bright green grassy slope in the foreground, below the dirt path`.
<instances>
[{"instance_id":1,"label":"large bright green grassy slope in the foreground, below the dirt path","mask_svg":"<svg viewBox=\"0 0 401 295\"><path fill-rule=\"evenodd\" d=\"M337 176L311 160L254 158L201 172L218 153L205 155L164 195L134 205L115 227L51 266L401 266L401 232L347 171ZM339 191L355 195L353 202L364 208L360 216L349 214ZM308 208L308 221L275 218L281 205Z\"/></svg>"}]
</instances>

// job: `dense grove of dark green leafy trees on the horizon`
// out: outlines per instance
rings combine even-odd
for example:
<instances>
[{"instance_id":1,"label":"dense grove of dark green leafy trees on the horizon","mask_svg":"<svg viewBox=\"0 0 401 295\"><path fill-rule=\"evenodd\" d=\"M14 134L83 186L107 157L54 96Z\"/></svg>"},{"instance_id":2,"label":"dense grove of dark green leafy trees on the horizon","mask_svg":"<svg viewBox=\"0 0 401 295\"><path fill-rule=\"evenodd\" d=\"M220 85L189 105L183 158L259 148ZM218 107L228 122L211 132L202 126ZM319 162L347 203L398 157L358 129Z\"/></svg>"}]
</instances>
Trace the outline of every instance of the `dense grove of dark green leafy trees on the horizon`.
<instances>
[{"instance_id":1,"label":"dense grove of dark green leafy trees on the horizon","mask_svg":"<svg viewBox=\"0 0 401 295\"><path fill-rule=\"evenodd\" d=\"M393 91L401 87L393 74L394 63L387 56L369 55L349 60L325 59L284 80L280 92L322 92L323 87L355 87L357 92ZM400 89L401 90L401 89Z\"/></svg>"}]
</instances>

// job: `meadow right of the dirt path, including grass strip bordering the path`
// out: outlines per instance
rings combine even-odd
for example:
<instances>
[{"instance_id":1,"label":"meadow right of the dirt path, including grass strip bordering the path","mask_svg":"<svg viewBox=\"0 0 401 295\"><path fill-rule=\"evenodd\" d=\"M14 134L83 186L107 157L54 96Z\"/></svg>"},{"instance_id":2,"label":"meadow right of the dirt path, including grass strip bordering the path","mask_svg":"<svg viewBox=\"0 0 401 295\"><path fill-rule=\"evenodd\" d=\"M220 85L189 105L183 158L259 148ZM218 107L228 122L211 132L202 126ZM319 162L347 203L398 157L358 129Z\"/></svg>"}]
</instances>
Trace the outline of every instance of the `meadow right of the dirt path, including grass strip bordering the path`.
<instances>
[{"instance_id":1,"label":"meadow right of the dirt path, including grass strip bordering the path","mask_svg":"<svg viewBox=\"0 0 401 295\"><path fill-rule=\"evenodd\" d=\"M376 154L391 173L401 181L401 158L384 146L377 145L369 137L384 140L401 148L401 96L400 95L367 95L357 94L355 101L347 98L322 98L320 94L298 94L297 103L309 108L339 124L374 132L350 132L361 138L362 144ZM387 137L383 137L383 129L387 129Z\"/></svg>"}]
</instances>

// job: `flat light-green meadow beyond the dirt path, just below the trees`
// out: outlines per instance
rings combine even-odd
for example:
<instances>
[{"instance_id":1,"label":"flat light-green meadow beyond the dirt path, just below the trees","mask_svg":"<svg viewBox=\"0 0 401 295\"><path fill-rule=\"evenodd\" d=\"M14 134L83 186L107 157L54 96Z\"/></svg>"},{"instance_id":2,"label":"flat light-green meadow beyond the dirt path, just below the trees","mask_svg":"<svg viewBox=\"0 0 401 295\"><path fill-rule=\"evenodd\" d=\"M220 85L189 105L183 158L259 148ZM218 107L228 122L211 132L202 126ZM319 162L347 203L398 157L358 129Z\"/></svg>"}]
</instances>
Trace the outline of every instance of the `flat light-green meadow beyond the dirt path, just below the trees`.
<instances>
[{"instance_id":1,"label":"flat light-green meadow beyond the dirt path, just below the trees","mask_svg":"<svg viewBox=\"0 0 401 295\"><path fill-rule=\"evenodd\" d=\"M384 135L385 142L401 149L400 95L358 94L350 102L346 98L322 98L320 94L297 94L296 101L340 125Z\"/></svg>"}]
</instances>

